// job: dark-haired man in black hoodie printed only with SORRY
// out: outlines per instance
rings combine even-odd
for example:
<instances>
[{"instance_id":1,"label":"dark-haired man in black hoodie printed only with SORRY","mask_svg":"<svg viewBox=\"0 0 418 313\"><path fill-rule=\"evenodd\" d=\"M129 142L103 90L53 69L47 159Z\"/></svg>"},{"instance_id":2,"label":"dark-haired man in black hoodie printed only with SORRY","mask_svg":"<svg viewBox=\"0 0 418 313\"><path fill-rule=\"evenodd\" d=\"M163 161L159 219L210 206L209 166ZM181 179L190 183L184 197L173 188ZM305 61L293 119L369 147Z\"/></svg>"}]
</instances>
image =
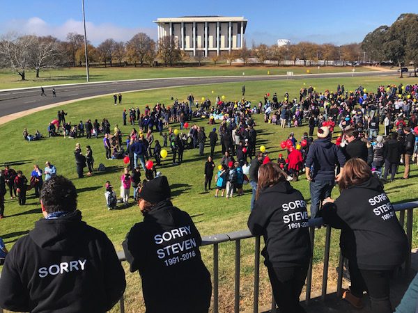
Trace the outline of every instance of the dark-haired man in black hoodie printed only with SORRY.
<instances>
[{"instance_id":1,"label":"dark-haired man in black hoodie printed only with SORRY","mask_svg":"<svg viewBox=\"0 0 418 313\"><path fill-rule=\"evenodd\" d=\"M45 218L10 250L0 278L0 307L19 312L107 312L125 290L125 273L106 234L77 210L74 184L48 179Z\"/></svg>"}]
</instances>

